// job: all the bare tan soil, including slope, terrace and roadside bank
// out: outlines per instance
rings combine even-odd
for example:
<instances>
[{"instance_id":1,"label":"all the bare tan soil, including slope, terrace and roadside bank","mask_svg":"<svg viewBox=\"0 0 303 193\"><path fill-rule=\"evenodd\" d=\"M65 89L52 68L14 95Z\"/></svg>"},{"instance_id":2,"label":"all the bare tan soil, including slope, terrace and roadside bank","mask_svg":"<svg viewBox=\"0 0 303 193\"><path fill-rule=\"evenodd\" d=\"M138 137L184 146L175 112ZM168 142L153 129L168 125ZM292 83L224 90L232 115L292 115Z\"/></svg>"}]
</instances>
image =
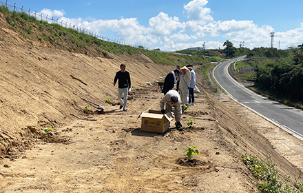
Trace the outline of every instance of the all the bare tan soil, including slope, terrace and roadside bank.
<instances>
[{"instance_id":1,"label":"all the bare tan soil, including slope, terrace and roadside bank","mask_svg":"<svg viewBox=\"0 0 303 193\"><path fill-rule=\"evenodd\" d=\"M303 168L300 139L220 90L211 93L198 69L201 94L182 115L184 130L172 121L164 134L141 132L138 116L158 110L163 96L154 81L173 66L143 54L57 50L22 37L3 17L0 23L1 192L258 192L242 154L270 157L291 180ZM127 112L113 105L121 63L136 88ZM200 152L191 160L184 153L189 145Z\"/></svg>"}]
</instances>

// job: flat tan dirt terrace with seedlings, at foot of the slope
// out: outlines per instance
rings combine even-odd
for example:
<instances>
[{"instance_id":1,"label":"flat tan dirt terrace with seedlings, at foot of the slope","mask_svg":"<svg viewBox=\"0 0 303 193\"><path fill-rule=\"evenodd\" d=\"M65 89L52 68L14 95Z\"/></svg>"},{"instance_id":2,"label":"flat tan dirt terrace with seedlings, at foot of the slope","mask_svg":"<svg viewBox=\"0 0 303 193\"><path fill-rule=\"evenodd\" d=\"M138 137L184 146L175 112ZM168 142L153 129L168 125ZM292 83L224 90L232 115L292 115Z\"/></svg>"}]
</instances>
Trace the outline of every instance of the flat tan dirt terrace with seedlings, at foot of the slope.
<instances>
[{"instance_id":1,"label":"flat tan dirt terrace with seedlings, at foot of the slope","mask_svg":"<svg viewBox=\"0 0 303 193\"><path fill-rule=\"evenodd\" d=\"M157 108L163 96L152 90L136 92L127 112L106 105L110 113L95 116L97 121L59 128L71 143L36 143L26 159L7 162L1 187L6 192L256 192L244 165L213 126L203 94L196 94L197 105L182 117L183 125L194 119L194 128L140 132L137 115ZM185 158L188 145L199 147L198 167L176 162Z\"/></svg>"}]
</instances>

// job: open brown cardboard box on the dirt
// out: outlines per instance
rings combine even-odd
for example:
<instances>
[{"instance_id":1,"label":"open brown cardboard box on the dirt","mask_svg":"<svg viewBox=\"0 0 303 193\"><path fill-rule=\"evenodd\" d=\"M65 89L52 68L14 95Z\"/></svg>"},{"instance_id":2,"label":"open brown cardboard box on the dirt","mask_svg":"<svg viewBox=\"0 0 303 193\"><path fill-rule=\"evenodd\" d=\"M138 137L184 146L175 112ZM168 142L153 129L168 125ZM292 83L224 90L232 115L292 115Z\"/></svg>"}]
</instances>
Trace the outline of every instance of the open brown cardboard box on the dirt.
<instances>
[{"instance_id":1,"label":"open brown cardboard box on the dirt","mask_svg":"<svg viewBox=\"0 0 303 193\"><path fill-rule=\"evenodd\" d=\"M169 122L174 119L171 112L162 114L160 110L146 110L140 114L142 118L141 131L164 133L169 128Z\"/></svg>"}]
</instances>

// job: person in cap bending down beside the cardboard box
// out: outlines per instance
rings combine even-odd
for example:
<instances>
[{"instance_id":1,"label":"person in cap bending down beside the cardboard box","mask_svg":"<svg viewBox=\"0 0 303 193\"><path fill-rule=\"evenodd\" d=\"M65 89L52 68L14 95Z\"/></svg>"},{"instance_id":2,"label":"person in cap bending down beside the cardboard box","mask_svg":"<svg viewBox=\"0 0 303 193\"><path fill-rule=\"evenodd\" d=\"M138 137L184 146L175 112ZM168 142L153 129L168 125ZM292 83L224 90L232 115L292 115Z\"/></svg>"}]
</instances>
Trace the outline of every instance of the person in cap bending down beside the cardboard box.
<instances>
[{"instance_id":1,"label":"person in cap bending down beside the cardboard box","mask_svg":"<svg viewBox=\"0 0 303 193\"><path fill-rule=\"evenodd\" d=\"M164 107L166 106L166 111ZM169 90L165 96L160 100L160 109L163 114L165 112L170 112L171 107L174 107L174 116L176 120L176 128L177 130L182 130L181 116L182 116L182 108L181 108L181 99L180 94L176 90Z\"/></svg>"}]
</instances>

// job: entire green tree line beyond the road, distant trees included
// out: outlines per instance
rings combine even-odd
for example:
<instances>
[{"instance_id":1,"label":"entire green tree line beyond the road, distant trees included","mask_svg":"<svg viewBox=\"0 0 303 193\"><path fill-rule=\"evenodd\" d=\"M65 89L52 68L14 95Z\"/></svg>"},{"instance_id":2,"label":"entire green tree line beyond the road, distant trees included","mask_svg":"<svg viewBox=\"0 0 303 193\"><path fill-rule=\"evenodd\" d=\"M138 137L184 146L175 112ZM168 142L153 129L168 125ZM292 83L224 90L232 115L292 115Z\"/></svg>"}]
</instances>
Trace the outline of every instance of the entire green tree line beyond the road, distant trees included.
<instances>
[{"instance_id":1,"label":"entire green tree line beyond the road, distant trees included","mask_svg":"<svg viewBox=\"0 0 303 193\"><path fill-rule=\"evenodd\" d=\"M230 41L225 41L226 57L271 58L267 62L255 65L255 88L275 94L283 99L298 103L303 102L303 43L297 48L287 50L277 48L234 48Z\"/></svg>"}]
</instances>

